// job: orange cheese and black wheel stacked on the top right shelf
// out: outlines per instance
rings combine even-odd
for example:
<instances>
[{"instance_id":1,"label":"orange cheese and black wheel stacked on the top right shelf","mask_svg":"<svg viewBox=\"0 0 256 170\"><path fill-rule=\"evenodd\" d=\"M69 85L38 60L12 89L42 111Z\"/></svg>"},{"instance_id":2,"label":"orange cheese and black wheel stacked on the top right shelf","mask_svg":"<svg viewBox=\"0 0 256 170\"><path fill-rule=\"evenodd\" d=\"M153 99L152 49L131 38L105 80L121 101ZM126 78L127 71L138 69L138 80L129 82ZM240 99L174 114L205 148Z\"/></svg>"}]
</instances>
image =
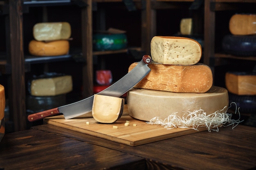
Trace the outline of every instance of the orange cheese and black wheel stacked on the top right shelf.
<instances>
[{"instance_id":1,"label":"orange cheese and black wheel stacked on the top right shelf","mask_svg":"<svg viewBox=\"0 0 256 170\"><path fill-rule=\"evenodd\" d=\"M231 55L256 56L256 14L234 14L229 31L222 39L222 49Z\"/></svg>"}]
</instances>

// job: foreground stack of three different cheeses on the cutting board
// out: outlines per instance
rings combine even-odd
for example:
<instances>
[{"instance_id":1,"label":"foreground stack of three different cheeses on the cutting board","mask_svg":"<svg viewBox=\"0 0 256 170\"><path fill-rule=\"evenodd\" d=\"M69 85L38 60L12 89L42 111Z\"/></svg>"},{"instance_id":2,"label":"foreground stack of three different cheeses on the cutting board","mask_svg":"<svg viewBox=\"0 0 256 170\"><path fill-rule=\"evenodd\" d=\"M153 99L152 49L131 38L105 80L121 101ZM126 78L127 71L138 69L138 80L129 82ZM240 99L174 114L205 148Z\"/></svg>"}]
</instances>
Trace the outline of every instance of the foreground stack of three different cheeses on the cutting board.
<instances>
[{"instance_id":1,"label":"foreground stack of three different cheeses on the cutting board","mask_svg":"<svg viewBox=\"0 0 256 170\"><path fill-rule=\"evenodd\" d=\"M140 120L184 117L203 109L208 115L228 106L225 88L213 86L209 66L198 63L200 44L190 38L155 36L151 40L151 71L127 96L129 114ZM137 63L129 67L129 71Z\"/></svg>"}]
</instances>

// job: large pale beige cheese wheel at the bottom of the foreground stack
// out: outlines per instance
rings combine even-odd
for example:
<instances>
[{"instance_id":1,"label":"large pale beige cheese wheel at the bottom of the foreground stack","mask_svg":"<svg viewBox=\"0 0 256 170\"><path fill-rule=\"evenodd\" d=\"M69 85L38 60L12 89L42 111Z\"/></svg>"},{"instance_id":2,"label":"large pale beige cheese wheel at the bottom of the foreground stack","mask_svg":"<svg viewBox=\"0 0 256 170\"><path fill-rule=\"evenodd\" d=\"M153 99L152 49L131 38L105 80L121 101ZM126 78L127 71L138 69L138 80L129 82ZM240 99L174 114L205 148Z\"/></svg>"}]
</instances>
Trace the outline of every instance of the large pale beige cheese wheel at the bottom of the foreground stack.
<instances>
[{"instance_id":1,"label":"large pale beige cheese wheel at the bottom of the foreground stack","mask_svg":"<svg viewBox=\"0 0 256 170\"><path fill-rule=\"evenodd\" d=\"M176 112L177 116L182 117L188 115L187 111L200 109L209 115L228 105L227 90L218 86L212 86L206 93L173 93L134 88L127 96L130 116L144 121L154 117L164 120Z\"/></svg>"}]
</instances>

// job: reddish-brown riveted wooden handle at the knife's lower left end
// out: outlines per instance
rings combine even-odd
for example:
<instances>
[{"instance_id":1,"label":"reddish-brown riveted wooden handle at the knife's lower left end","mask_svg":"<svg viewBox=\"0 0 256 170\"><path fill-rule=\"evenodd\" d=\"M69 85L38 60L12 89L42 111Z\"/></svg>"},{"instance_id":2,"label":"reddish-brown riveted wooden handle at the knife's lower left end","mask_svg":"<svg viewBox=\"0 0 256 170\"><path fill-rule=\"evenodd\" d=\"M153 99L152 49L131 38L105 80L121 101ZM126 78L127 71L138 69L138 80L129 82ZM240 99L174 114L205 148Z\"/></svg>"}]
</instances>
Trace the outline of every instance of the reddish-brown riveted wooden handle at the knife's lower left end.
<instances>
[{"instance_id":1,"label":"reddish-brown riveted wooden handle at the knife's lower left end","mask_svg":"<svg viewBox=\"0 0 256 170\"><path fill-rule=\"evenodd\" d=\"M57 115L58 113L60 113L58 108L52 108L52 109L49 109L49 110L45 110L45 111L42 111L42 112L38 112L38 113L28 115L27 119L28 119L28 121L36 121L36 120L43 119L45 117Z\"/></svg>"}]
</instances>

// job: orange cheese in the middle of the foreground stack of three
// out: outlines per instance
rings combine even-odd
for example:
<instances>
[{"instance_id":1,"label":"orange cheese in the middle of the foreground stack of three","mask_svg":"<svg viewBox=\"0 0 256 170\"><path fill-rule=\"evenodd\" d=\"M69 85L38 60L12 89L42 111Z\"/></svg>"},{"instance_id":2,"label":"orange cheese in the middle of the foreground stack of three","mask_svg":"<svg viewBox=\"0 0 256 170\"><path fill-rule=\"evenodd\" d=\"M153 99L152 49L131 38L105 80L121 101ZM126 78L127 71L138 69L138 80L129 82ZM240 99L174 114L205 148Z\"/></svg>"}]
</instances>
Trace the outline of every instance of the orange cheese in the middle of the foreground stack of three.
<instances>
[{"instance_id":1,"label":"orange cheese in the middle of the foreground stack of three","mask_svg":"<svg viewBox=\"0 0 256 170\"><path fill-rule=\"evenodd\" d=\"M131 71L137 63L130 65ZM205 93L213 85L211 68L205 64L167 65L148 64L151 71L135 88L177 93Z\"/></svg>"}]
</instances>

